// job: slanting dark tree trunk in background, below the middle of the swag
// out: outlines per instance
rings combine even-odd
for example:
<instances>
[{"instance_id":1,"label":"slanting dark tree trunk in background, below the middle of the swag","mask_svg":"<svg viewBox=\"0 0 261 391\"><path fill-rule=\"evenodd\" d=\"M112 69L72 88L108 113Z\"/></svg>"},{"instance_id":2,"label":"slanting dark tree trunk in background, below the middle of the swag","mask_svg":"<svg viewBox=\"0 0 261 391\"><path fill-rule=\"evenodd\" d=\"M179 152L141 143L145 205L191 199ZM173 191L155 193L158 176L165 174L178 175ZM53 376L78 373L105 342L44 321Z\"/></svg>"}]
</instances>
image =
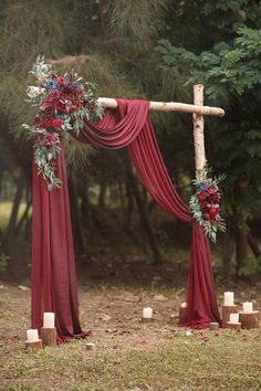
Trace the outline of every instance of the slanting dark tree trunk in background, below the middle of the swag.
<instances>
[{"instance_id":1,"label":"slanting dark tree trunk in background, below the middle of the swag","mask_svg":"<svg viewBox=\"0 0 261 391\"><path fill-rule=\"evenodd\" d=\"M123 162L124 162L124 166L126 169L126 175L127 175L129 187L132 189L132 192L133 192L134 198L137 203L137 208L138 208L139 215L140 215L140 222L143 224L143 228L144 228L145 233L147 235L149 246L153 252L154 264L158 265L158 264L163 263L163 258L161 258L161 255L160 255L160 252L158 249L157 240L155 237L155 234L153 232L153 229L152 229L152 225L150 225L150 222L148 219L147 208L144 204L143 198L142 198L139 189L138 189L137 179L133 173L132 163L130 163L129 158L125 151L123 151L122 158L123 158Z\"/></svg>"}]
</instances>

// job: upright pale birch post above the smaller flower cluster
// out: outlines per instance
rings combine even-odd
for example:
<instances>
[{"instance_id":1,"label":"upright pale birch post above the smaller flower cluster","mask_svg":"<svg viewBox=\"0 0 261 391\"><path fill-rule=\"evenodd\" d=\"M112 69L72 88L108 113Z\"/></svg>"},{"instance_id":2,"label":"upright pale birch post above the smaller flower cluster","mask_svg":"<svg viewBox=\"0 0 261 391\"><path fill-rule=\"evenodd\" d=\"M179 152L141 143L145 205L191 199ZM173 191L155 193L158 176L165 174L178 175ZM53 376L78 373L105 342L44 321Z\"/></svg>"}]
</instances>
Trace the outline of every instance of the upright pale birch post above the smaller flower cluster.
<instances>
[{"instance_id":1,"label":"upright pale birch post above the smaller flower cluster","mask_svg":"<svg viewBox=\"0 0 261 391\"><path fill-rule=\"evenodd\" d=\"M194 104L203 106L203 85L194 86ZM203 140L203 115L194 114L194 145L196 170L202 170L206 163L205 140Z\"/></svg>"}]
</instances>

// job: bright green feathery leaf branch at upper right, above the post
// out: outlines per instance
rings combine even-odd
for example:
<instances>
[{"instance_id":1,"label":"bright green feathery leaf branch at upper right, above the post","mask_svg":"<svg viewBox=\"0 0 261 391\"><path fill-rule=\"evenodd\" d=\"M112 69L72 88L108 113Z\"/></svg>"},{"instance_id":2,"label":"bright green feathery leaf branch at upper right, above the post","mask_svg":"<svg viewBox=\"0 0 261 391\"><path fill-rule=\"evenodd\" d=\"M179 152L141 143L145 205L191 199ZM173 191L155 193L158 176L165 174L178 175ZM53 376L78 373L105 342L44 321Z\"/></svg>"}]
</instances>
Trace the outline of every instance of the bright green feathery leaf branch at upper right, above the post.
<instances>
[{"instance_id":1,"label":"bright green feathery leaf branch at upper right, above the post","mask_svg":"<svg viewBox=\"0 0 261 391\"><path fill-rule=\"evenodd\" d=\"M241 95L261 84L261 30L240 29L231 45L221 42L212 52L198 56L166 41L159 42L158 50L164 66L186 67L190 73L188 83L205 82L212 99Z\"/></svg>"}]
</instances>

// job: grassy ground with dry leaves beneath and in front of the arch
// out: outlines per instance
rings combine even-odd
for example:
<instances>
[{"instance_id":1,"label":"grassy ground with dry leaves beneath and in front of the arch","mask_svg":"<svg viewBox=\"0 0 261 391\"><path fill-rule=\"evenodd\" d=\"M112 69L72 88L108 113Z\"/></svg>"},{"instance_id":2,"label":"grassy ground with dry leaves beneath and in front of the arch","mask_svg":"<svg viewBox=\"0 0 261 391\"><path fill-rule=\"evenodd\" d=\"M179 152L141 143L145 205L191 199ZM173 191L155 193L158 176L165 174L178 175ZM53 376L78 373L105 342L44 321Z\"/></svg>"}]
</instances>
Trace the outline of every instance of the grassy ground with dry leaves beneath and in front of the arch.
<instances>
[{"instance_id":1,"label":"grassy ground with dry leaves beneath and in front of the arch","mask_svg":"<svg viewBox=\"0 0 261 391\"><path fill-rule=\"evenodd\" d=\"M71 341L35 353L24 350L29 292L7 287L0 308L0 390L4 391L244 391L261 390L260 330L194 331L167 323L177 298L154 302L138 290L86 292L81 288L81 317L96 344ZM140 324L140 309L152 304L155 323ZM9 314L15 316L9 316ZM107 314L111 320L101 320ZM95 321L94 321L95 320ZM96 323L96 324L95 324Z\"/></svg>"}]
</instances>

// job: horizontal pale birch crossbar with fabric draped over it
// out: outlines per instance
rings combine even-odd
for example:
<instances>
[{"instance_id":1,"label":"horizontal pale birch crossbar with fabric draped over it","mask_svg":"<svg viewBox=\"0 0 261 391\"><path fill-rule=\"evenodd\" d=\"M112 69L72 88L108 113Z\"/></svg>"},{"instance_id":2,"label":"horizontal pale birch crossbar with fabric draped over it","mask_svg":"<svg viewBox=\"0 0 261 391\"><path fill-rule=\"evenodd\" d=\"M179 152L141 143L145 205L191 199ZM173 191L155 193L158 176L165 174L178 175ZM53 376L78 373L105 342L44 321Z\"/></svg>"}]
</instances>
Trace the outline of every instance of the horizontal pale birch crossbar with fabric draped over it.
<instances>
[{"instance_id":1,"label":"horizontal pale birch crossbar with fabric draped over it","mask_svg":"<svg viewBox=\"0 0 261 391\"><path fill-rule=\"evenodd\" d=\"M97 103L103 107L117 107L117 101L114 98L100 97ZM220 107L188 105L187 103L177 102L149 102L149 109L155 112L195 113L198 115L213 115L219 117L225 115L225 110Z\"/></svg>"}]
</instances>

